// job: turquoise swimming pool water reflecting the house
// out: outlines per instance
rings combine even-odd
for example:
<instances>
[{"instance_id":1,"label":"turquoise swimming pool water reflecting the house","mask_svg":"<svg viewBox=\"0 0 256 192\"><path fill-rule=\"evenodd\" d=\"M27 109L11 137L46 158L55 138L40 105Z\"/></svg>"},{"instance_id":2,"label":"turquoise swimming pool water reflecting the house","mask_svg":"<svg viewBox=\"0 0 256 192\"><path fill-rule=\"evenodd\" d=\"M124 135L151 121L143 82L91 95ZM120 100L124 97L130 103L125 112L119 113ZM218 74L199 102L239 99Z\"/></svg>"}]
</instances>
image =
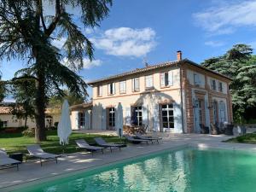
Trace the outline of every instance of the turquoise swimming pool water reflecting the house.
<instances>
[{"instance_id":1,"label":"turquoise swimming pool water reflecting the house","mask_svg":"<svg viewBox=\"0 0 256 192\"><path fill-rule=\"evenodd\" d=\"M16 191L256 191L256 155L230 150L185 148Z\"/></svg>"}]
</instances>

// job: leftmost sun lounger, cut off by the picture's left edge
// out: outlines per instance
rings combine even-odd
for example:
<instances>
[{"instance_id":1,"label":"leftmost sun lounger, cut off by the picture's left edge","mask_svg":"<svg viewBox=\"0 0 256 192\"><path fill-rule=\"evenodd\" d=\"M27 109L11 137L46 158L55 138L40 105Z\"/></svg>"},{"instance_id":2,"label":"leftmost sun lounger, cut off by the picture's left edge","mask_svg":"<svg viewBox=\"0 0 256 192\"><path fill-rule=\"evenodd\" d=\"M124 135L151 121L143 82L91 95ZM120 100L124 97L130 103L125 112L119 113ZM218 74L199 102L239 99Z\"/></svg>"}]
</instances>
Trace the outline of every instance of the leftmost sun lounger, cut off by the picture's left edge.
<instances>
[{"instance_id":1,"label":"leftmost sun lounger, cut off by the picture's left edge","mask_svg":"<svg viewBox=\"0 0 256 192\"><path fill-rule=\"evenodd\" d=\"M17 168L19 170L19 164L21 162L19 160L14 160L9 158L8 154L3 149L0 149L0 170L1 169L9 169L9 168Z\"/></svg>"}]
</instances>

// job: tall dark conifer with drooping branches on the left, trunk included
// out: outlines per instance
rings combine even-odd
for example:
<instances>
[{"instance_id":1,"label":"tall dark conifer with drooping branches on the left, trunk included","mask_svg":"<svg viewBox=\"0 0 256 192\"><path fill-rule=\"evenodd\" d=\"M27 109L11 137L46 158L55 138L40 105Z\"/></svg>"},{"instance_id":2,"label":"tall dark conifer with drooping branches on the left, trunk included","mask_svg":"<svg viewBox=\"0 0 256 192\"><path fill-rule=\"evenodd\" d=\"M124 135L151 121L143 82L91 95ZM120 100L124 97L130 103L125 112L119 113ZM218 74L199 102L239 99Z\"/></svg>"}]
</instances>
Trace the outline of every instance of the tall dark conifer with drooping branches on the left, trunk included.
<instances>
[{"instance_id":1,"label":"tall dark conifer with drooping branches on the left, trunk included","mask_svg":"<svg viewBox=\"0 0 256 192\"><path fill-rule=\"evenodd\" d=\"M54 16L47 15L44 3L55 6ZM67 6L81 13L79 20L84 27L94 27L108 16L112 0L45 0L44 3L42 0L0 2L0 59L27 59L28 67L19 73L29 73L29 78L36 81L38 142L46 140L44 112L50 95L63 95L61 87L66 86L74 95L87 96L87 84L75 71L83 67L84 57L93 59L93 47L73 21ZM52 44L55 38L66 38L64 49ZM61 63L64 58L67 65Z\"/></svg>"}]
</instances>

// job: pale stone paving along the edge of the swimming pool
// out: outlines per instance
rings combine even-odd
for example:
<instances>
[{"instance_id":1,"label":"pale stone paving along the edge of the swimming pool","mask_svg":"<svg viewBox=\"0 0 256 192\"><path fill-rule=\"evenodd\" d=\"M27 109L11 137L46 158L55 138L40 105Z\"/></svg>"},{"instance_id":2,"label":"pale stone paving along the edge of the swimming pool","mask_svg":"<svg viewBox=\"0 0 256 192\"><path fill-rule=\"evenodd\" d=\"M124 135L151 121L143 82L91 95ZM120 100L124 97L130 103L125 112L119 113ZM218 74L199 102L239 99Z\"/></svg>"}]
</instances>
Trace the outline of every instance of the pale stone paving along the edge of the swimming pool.
<instances>
[{"instance_id":1,"label":"pale stone paving along the edge of the swimming pool","mask_svg":"<svg viewBox=\"0 0 256 192\"><path fill-rule=\"evenodd\" d=\"M22 183L32 181L46 181L51 177L65 177L67 173L75 174L76 171L105 166L119 160L134 158L143 154L151 154L157 151L193 146L199 148L226 148L232 150L249 150L256 153L256 145L240 143L222 143L230 138L228 136L211 136L200 134L159 134L163 140L157 144L130 144L121 151L115 150L113 153L106 151L104 154L96 153L94 156L84 153L67 154L61 157L58 164L54 161L46 162L41 167L35 161L28 161L20 165L20 171L7 169L0 171L0 191L9 191L12 187L20 187ZM21 184L21 185L20 185ZM8 188L7 188L8 187Z\"/></svg>"}]
</instances>

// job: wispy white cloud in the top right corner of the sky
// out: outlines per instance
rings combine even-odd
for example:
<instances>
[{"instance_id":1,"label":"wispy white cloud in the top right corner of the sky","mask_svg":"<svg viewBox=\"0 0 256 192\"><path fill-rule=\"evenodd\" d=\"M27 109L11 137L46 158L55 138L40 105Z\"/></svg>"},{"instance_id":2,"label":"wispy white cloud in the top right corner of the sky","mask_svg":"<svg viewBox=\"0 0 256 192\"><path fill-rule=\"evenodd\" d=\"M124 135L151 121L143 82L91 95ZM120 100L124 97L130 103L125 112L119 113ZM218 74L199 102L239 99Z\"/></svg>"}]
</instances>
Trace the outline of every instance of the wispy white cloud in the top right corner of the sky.
<instances>
[{"instance_id":1,"label":"wispy white cloud in the top right corner of the sky","mask_svg":"<svg viewBox=\"0 0 256 192\"><path fill-rule=\"evenodd\" d=\"M256 1L222 3L193 15L211 34L228 34L241 26L256 26Z\"/></svg>"}]
</instances>

